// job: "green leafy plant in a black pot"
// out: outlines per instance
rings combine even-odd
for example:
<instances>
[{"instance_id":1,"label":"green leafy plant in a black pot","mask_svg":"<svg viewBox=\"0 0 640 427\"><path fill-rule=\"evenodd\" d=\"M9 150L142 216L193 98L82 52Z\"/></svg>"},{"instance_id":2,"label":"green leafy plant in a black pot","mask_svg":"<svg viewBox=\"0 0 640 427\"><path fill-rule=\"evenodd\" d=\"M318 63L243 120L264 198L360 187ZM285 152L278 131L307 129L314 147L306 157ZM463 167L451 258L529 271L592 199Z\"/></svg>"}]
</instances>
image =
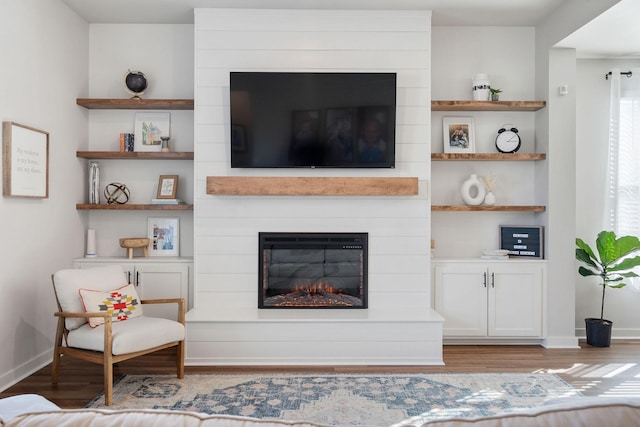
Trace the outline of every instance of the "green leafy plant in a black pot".
<instances>
[{"instance_id":1,"label":"green leafy plant in a black pot","mask_svg":"<svg viewBox=\"0 0 640 427\"><path fill-rule=\"evenodd\" d=\"M616 238L613 231L601 231L596 239L598 256L582 239L576 238L576 259L583 263L578 273L581 276L597 276L602 286L600 318L585 319L587 328L587 344L594 347L611 345L611 328L613 322L604 318L604 296L607 287L622 288L626 286L625 278L638 277L632 270L640 265L640 256L633 256L640 251L640 239L635 236Z\"/></svg>"}]
</instances>

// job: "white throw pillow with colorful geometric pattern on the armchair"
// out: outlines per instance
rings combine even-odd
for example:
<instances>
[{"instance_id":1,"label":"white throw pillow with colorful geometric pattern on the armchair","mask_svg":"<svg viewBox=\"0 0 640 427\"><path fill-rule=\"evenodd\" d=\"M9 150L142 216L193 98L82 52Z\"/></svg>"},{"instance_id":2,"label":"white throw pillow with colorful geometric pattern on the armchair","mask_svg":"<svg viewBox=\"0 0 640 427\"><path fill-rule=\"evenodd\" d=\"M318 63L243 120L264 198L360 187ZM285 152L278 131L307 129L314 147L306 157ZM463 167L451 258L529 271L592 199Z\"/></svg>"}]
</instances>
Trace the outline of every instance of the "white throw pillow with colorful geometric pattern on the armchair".
<instances>
[{"instance_id":1,"label":"white throw pillow with colorful geometric pattern on the armchair","mask_svg":"<svg viewBox=\"0 0 640 427\"><path fill-rule=\"evenodd\" d=\"M80 289L80 298L85 312L110 313L114 322L142 316L140 298L132 284L107 292ZM92 328L102 324L104 324L102 317L89 318L89 326Z\"/></svg>"}]
</instances>

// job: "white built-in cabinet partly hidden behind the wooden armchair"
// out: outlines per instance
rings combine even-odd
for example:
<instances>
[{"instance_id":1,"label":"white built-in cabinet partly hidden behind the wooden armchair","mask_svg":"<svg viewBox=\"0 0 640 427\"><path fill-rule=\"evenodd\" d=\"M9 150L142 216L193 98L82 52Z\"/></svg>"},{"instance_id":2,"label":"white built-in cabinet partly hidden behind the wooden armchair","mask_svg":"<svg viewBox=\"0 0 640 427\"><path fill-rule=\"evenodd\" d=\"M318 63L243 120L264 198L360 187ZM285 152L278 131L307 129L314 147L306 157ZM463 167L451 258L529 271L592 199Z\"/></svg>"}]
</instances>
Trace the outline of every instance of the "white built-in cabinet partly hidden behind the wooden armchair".
<instances>
[{"instance_id":1,"label":"white built-in cabinet partly hidden behind the wooden armchair","mask_svg":"<svg viewBox=\"0 0 640 427\"><path fill-rule=\"evenodd\" d=\"M184 298L185 309L190 308L189 295L193 288L193 260L190 258L78 258L73 264L74 268L119 264L124 270L124 279L136 286L140 298ZM145 305L144 314L177 319L175 304Z\"/></svg>"}]
</instances>

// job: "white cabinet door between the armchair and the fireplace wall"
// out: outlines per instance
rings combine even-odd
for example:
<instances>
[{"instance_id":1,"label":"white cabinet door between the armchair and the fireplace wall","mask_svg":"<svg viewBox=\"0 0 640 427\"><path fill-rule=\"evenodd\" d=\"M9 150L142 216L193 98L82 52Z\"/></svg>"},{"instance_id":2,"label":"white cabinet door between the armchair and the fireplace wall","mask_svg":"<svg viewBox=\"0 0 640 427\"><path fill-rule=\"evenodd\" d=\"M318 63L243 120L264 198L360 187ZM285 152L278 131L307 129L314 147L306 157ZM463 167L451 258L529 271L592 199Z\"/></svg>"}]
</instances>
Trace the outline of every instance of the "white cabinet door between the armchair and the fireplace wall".
<instances>
[{"instance_id":1,"label":"white cabinet door between the armchair and the fireplace wall","mask_svg":"<svg viewBox=\"0 0 640 427\"><path fill-rule=\"evenodd\" d=\"M186 304L189 267L186 264L170 262L136 264L134 283L142 299L184 298ZM145 316L178 319L176 304L145 304L143 309Z\"/></svg>"}]
</instances>

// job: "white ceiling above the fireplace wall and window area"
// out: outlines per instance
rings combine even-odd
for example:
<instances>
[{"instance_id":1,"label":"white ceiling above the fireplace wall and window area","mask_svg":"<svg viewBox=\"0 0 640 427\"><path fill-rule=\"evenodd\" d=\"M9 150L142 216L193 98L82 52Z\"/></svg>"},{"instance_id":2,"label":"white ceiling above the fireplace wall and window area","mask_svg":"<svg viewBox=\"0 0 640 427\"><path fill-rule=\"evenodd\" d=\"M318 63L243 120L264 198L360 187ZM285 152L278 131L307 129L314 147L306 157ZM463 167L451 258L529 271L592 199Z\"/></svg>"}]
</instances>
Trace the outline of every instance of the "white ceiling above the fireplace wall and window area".
<instances>
[{"instance_id":1,"label":"white ceiling above the fireplace wall and window area","mask_svg":"<svg viewBox=\"0 0 640 427\"><path fill-rule=\"evenodd\" d=\"M535 26L565 0L62 0L90 23L191 24L194 8L422 9L433 25ZM621 0L559 46L578 57L640 58L640 1ZM627 24L625 24L625 22Z\"/></svg>"}]
</instances>

